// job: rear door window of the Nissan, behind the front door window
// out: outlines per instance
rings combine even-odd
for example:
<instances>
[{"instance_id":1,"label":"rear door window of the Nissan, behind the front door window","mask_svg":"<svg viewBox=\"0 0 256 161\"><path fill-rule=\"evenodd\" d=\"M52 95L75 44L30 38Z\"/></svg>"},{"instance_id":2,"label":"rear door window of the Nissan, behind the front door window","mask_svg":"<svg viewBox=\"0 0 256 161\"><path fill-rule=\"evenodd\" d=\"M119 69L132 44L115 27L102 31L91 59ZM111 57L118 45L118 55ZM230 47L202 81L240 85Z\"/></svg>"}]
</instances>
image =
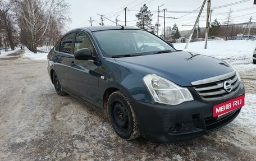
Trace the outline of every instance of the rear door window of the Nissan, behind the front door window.
<instances>
[{"instance_id":1,"label":"rear door window of the Nissan, behind the front door window","mask_svg":"<svg viewBox=\"0 0 256 161\"><path fill-rule=\"evenodd\" d=\"M66 35L64 38L62 38L61 44L60 44L60 50L59 50L60 52L71 54L71 52L72 52L71 48L72 48L74 34L75 33L71 33L71 34Z\"/></svg>"}]
</instances>

